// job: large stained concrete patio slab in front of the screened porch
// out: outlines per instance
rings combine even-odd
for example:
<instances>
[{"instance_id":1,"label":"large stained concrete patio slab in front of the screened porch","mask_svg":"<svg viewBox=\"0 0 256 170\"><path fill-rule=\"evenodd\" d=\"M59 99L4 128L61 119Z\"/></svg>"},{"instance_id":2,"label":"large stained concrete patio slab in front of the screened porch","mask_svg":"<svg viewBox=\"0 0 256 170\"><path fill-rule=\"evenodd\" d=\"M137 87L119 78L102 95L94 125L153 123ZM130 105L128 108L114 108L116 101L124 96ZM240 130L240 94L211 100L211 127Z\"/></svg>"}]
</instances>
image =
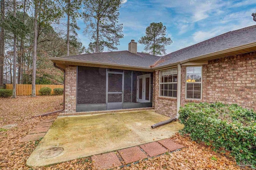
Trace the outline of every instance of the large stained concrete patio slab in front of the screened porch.
<instances>
[{"instance_id":1,"label":"large stained concrete patio slab in front of the screened porch","mask_svg":"<svg viewBox=\"0 0 256 170\"><path fill-rule=\"evenodd\" d=\"M134 147L166 139L183 125L174 121L152 129L151 125L169 119L154 110L58 117L27 160L28 166L47 166L77 158ZM61 147L51 158L40 157L45 150Z\"/></svg>"}]
</instances>

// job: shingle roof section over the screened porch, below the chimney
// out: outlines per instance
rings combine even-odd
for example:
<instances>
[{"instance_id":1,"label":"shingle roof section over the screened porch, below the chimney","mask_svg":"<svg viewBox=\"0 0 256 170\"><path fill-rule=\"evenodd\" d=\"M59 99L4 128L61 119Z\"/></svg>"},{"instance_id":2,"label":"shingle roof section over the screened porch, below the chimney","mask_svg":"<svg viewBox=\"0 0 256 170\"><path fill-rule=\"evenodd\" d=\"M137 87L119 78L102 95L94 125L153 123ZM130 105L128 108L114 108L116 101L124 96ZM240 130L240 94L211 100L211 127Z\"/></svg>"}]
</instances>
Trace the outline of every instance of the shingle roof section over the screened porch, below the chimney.
<instances>
[{"instance_id":1,"label":"shingle roof section over the screened porch, below the chimney","mask_svg":"<svg viewBox=\"0 0 256 170\"><path fill-rule=\"evenodd\" d=\"M124 64L129 66L150 67L161 57L145 53L130 53L129 51L113 51L104 53L81 54L62 57L65 59L76 59L82 61L93 61L100 63Z\"/></svg>"}]
</instances>

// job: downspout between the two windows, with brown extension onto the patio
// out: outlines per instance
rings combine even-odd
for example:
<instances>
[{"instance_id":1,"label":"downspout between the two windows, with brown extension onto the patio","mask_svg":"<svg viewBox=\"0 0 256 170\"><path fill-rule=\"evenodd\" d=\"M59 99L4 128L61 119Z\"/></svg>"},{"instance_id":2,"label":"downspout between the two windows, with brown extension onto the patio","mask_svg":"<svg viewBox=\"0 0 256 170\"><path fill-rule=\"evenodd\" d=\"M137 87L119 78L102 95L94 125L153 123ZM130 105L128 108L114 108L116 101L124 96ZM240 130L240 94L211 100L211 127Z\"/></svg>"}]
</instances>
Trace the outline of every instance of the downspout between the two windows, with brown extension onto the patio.
<instances>
[{"instance_id":1,"label":"downspout between the two windows, with brown extension onto the patio","mask_svg":"<svg viewBox=\"0 0 256 170\"><path fill-rule=\"evenodd\" d=\"M151 126L152 129L165 125L167 123L171 123L172 121L175 121L178 119L179 117L179 110L180 110L180 94L181 94L181 66L180 64L178 64L178 82L177 82L177 113L176 113L176 117L168 119L166 121L161 121L159 123L156 123L154 125Z\"/></svg>"}]
</instances>

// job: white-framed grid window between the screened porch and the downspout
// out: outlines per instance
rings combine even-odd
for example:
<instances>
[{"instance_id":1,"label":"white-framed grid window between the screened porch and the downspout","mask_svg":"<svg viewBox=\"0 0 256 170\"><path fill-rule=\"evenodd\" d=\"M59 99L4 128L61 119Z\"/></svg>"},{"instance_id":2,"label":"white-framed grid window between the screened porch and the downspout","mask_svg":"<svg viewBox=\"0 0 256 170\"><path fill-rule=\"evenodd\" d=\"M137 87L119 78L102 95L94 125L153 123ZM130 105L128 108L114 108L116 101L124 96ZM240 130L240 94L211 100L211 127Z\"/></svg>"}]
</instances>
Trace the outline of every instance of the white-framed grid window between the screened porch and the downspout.
<instances>
[{"instance_id":1,"label":"white-framed grid window between the screened porch and the downspout","mask_svg":"<svg viewBox=\"0 0 256 170\"><path fill-rule=\"evenodd\" d=\"M159 96L177 97L177 68L160 71L160 92Z\"/></svg>"}]
</instances>

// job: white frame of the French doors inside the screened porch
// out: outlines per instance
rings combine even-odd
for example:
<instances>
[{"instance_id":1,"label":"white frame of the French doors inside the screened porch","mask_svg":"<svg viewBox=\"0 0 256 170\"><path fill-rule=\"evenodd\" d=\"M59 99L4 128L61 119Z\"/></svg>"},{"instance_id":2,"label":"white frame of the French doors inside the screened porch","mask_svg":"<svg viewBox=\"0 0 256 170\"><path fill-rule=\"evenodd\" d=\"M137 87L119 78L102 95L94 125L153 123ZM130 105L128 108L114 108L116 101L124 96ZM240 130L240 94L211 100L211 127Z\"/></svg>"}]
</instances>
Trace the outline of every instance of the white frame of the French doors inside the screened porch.
<instances>
[{"instance_id":1,"label":"white frame of the French doors inside the screened porch","mask_svg":"<svg viewBox=\"0 0 256 170\"><path fill-rule=\"evenodd\" d=\"M139 99L139 79L142 78L142 99ZM146 100L146 78L149 78L149 100ZM150 102L150 93L151 93L151 74L144 74L137 76L137 102L146 103Z\"/></svg>"}]
</instances>

